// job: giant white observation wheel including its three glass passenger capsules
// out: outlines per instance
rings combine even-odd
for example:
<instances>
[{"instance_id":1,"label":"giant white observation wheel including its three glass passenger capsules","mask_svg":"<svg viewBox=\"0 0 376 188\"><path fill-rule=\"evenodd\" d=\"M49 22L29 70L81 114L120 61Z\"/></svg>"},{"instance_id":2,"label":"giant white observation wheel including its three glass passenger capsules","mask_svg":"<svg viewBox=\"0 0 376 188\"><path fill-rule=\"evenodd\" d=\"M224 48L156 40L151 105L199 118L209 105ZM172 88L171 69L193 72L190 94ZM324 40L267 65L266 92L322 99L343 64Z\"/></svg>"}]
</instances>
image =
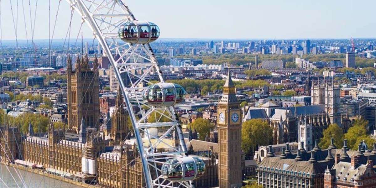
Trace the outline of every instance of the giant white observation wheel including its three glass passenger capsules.
<instances>
[{"instance_id":1,"label":"giant white observation wheel including its three glass passenger capsules","mask_svg":"<svg viewBox=\"0 0 376 188\"><path fill-rule=\"evenodd\" d=\"M90 27L103 55L114 67L133 124L146 187L191 188L192 180L205 172L205 163L187 155L174 109L174 104L183 100L185 90L164 82L149 44L158 39L158 26L136 20L122 0L66 2ZM121 74L126 74L127 79L123 80ZM151 82L151 78L158 83ZM150 116L154 118L151 122Z\"/></svg>"}]
</instances>

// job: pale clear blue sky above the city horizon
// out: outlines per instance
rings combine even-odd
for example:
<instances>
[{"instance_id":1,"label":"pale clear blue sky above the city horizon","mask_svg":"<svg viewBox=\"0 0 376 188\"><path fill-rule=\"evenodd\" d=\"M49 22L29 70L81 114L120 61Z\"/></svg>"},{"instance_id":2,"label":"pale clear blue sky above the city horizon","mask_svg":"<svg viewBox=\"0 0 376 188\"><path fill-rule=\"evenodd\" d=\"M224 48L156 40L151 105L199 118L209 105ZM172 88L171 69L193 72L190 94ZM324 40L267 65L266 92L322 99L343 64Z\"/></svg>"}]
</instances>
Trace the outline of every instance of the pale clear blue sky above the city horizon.
<instances>
[{"instance_id":1,"label":"pale clear blue sky above the city horizon","mask_svg":"<svg viewBox=\"0 0 376 188\"><path fill-rule=\"evenodd\" d=\"M28 0L1 1L2 38L15 39L9 3L16 20L18 38L26 39L22 3L31 38ZM36 0L30 0L34 14ZM123 0L138 20L161 28L162 38L370 38L376 37L374 0ZM51 0L54 23L58 0ZM69 6L62 0L54 38L65 38ZM39 0L35 39L48 39L48 0ZM76 38L80 18L73 18L71 38ZM52 30L52 29L51 29ZM90 38L88 27L84 37Z\"/></svg>"}]
</instances>

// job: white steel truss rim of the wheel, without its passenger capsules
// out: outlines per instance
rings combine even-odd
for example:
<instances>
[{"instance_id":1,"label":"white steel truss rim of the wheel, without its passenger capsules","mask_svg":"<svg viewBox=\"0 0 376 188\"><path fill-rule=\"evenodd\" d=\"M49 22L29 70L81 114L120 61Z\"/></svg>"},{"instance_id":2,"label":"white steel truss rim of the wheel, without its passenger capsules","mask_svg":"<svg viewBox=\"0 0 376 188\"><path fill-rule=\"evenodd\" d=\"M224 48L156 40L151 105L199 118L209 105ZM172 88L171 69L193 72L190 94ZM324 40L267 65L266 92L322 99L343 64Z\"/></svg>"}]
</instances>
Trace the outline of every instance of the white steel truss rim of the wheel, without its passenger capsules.
<instances>
[{"instance_id":1,"label":"white steel truss rim of the wheel, without its passenger capsules","mask_svg":"<svg viewBox=\"0 0 376 188\"><path fill-rule=\"evenodd\" d=\"M103 48L103 55L115 67L133 124L146 187L191 188L191 182L170 182L161 175L161 165L169 159L185 156L187 149L174 107L155 107L143 101L143 90L153 84L150 80L164 82L164 79L150 44L130 44L118 38L121 24L136 20L132 12L122 0L66 1L88 24L93 37ZM122 74L126 74L127 82L122 79ZM138 109L139 114L135 114L134 109ZM155 119L148 122L151 115ZM157 128L158 135L149 133L150 128Z\"/></svg>"}]
</instances>

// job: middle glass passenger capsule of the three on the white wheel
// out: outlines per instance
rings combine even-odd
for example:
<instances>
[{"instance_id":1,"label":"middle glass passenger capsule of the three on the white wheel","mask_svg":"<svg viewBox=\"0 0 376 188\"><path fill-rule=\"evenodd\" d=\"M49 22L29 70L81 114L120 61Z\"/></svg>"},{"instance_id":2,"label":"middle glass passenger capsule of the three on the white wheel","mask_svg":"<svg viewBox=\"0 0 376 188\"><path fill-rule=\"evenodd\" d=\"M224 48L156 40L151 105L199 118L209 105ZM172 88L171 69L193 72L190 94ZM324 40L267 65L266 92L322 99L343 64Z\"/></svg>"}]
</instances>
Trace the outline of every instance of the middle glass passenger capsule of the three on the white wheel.
<instances>
[{"instance_id":1,"label":"middle glass passenger capsule of the three on the white wheel","mask_svg":"<svg viewBox=\"0 0 376 188\"><path fill-rule=\"evenodd\" d=\"M185 89L175 83L157 83L144 90L144 102L151 106L173 106L182 102Z\"/></svg>"}]
</instances>

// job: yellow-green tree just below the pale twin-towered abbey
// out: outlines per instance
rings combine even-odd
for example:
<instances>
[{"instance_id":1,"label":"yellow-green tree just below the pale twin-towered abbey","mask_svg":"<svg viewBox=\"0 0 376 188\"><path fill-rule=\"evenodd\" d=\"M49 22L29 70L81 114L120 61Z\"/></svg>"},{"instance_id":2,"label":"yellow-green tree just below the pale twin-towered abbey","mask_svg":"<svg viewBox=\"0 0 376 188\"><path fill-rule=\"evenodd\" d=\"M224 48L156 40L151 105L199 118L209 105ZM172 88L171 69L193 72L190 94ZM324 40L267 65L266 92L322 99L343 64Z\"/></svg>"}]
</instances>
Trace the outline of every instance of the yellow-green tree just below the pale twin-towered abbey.
<instances>
[{"instance_id":1,"label":"yellow-green tree just below the pale twin-towered abbey","mask_svg":"<svg viewBox=\"0 0 376 188\"><path fill-rule=\"evenodd\" d=\"M331 144L331 138L334 138L335 147L341 148L343 146L343 132L337 124L330 124L324 130L323 135L318 144L321 148L328 148Z\"/></svg>"}]
</instances>

